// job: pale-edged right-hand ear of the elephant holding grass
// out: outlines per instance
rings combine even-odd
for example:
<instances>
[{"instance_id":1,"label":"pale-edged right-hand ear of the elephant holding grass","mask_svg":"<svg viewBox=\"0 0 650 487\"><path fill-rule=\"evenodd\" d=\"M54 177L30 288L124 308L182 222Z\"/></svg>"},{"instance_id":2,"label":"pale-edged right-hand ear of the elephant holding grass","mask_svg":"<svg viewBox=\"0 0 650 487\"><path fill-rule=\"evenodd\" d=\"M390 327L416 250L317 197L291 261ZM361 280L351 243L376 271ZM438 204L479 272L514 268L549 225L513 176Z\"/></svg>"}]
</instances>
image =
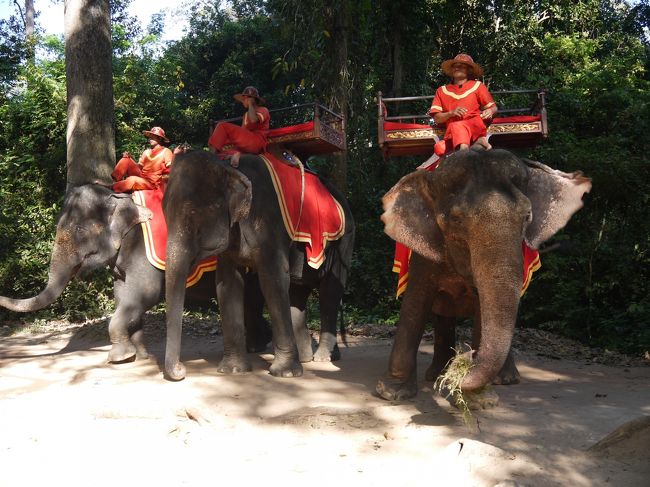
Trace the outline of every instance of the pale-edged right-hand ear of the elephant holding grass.
<instances>
[{"instance_id":1,"label":"pale-edged right-hand ear of the elephant holding grass","mask_svg":"<svg viewBox=\"0 0 650 487\"><path fill-rule=\"evenodd\" d=\"M540 162L522 159L528 168L528 188L533 219L525 232L526 243L536 249L560 231L582 208L582 196L591 179L580 171L565 173Z\"/></svg>"}]
</instances>

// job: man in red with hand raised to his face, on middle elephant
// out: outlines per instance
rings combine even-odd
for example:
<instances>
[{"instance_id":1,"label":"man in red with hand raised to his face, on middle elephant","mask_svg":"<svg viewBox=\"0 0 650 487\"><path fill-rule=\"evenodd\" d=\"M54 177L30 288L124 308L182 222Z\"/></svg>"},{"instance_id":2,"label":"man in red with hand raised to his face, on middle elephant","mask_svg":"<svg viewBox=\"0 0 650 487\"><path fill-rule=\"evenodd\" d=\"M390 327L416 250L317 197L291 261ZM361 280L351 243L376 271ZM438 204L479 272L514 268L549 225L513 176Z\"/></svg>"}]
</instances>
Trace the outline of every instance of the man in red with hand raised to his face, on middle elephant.
<instances>
[{"instance_id":1,"label":"man in red with hand raised to his face, on middle elephant","mask_svg":"<svg viewBox=\"0 0 650 487\"><path fill-rule=\"evenodd\" d=\"M230 155L230 164L239 166L242 152L259 154L266 149L267 133L271 120L266 102L257 88L247 86L242 93L235 95L235 100L246 108L241 127L228 122L221 122L212 132L208 145L214 152L221 152L224 146L233 146L235 152Z\"/></svg>"}]
</instances>

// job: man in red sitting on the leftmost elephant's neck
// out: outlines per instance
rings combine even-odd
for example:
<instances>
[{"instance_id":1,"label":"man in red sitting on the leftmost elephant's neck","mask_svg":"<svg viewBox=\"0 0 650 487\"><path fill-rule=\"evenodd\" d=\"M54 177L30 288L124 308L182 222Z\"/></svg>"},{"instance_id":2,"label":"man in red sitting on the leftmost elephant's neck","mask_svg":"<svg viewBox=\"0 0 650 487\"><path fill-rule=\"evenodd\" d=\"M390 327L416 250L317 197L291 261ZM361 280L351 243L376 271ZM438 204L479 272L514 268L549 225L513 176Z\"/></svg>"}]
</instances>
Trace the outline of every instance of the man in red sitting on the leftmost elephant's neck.
<instances>
[{"instance_id":1,"label":"man in red sitting on the leftmost elephant's neck","mask_svg":"<svg viewBox=\"0 0 650 487\"><path fill-rule=\"evenodd\" d=\"M115 183L113 191L126 193L139 189L158 189L162 184L163 174L169 172L174 154L163 144L168 144L165 131L160 127L142 132L149 139L150 148L146 149L136 164L131 154L125 152L113 170L111 177ZM124 176L127 176L126 179Z\"/></svg>"}]
</instances>

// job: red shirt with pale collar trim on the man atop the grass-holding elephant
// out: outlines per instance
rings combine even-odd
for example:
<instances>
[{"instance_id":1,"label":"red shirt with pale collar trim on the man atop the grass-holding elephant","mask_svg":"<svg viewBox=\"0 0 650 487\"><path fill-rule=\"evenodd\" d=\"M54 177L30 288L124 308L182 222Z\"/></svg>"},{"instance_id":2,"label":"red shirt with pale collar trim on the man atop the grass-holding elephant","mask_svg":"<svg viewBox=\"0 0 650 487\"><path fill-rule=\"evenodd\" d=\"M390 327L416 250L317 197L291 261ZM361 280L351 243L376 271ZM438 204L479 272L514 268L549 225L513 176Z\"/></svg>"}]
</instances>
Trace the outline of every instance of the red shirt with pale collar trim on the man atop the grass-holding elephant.
<instances>
[{"instance_id":1,"label":"red shirt with pale collar trim on the man atop the grass-holding elephant","mask_svg":"<svg viewBox=\"0 0 650 487\"><path fill-rule=\"evenodd\" d=\"M462 107L467 109L464 119L481 115L481 110L494 105L492 95L483 83L478 80L469 80L463 83L462 88L449 84L441 86L436 90L429 115L436 113L450 112L454 108ZM455 117L454 117L455 118ZM453 121L454 119L450 119Z\"/></svg>"}]
</instances>

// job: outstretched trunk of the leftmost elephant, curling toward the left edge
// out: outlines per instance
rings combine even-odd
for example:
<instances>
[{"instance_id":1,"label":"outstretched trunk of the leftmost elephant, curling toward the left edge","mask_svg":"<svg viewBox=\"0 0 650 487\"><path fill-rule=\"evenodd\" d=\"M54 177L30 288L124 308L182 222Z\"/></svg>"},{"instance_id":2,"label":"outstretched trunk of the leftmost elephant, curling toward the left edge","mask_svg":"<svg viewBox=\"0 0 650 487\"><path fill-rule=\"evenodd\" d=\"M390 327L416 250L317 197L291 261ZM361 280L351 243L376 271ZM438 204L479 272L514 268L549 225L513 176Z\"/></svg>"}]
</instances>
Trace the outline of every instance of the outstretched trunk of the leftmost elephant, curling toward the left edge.
<instances>
[{"instance_id":1,"label":"outstretched trunk of the leftmost elephant, curling toward the left edge","mask_svg":"<svg viewBox=\"0 0 650 487\"><path fill-rule=\"evenodd\" d=\"M67 259L61 256L61 251L55 244L45 289L37 296L26 299L11 299L0 296L0 306L19 313L28 313L43 309L56 301L68 282L70 282L70 279L74 277L78 267L70 265Z\"/></svg>"}]
</instances>

